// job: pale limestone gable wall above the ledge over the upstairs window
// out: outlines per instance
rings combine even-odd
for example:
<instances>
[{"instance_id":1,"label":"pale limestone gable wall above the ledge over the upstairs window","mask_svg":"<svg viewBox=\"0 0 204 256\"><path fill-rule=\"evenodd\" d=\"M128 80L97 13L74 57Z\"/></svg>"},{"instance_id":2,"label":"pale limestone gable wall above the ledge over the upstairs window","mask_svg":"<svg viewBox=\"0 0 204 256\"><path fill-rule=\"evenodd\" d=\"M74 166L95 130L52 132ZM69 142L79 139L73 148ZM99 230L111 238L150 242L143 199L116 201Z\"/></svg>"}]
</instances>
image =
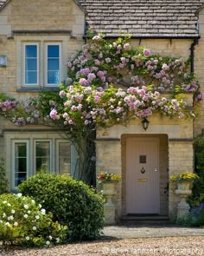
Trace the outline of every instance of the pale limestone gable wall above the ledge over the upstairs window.
<instances>
[{"instance_id":1,"label":"pale limestone gable wall above the ledge over the upstairs window","mask_svg":"<svg viewBox=\"0 0 204 256\"><path fill-rule=\"evenodd\" d=\"M72 30L84 33L84 11L73 0L12 0L1 12L0 34L13 30Z\"/></svg>"}]
</instances>

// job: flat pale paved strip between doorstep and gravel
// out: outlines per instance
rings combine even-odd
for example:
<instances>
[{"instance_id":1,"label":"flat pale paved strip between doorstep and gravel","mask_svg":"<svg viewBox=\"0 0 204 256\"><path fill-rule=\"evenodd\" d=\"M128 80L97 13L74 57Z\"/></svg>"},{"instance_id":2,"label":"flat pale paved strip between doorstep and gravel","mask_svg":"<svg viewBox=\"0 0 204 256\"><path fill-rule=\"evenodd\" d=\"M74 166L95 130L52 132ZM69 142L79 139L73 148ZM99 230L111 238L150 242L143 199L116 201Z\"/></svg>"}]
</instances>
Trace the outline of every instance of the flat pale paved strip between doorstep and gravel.
<instances>
[{"instance_id":1,"label":"flat pale paved strip between doorstep and gravel","mask_svg":"<svg viewBox=\"0 0 204 256\"><path fill-rule=\"evenodd\" d=\"M112 239L204 236L204 228L175 225L105 226L103 232Z\"/></svg>"}]
</instances>

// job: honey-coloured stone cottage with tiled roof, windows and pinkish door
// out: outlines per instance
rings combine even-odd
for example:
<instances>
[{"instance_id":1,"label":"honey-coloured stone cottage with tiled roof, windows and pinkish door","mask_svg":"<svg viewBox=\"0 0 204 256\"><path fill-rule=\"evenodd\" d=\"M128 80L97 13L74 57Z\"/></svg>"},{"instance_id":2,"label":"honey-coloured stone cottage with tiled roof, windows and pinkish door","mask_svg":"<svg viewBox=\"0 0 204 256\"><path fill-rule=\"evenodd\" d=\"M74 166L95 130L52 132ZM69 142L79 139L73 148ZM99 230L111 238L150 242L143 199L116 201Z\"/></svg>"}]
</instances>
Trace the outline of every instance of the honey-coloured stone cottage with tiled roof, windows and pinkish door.
<instances>
[{"instance_id":1,"label":"honey-coloured stone cottage with tiled roof, windows and pinkish door","mask_svg":"<svg viewBox=\"0 0 204 256\"><path fill-rule=\"evenodd\" d=\"M1 92L16 98L36 95L41 89L57 90L66 79L64 63L86 41L86 29L115 39L131 35L131 43L153 53L191 57L204 91L204 9L195 0L0 0ZM49 62L54 60L51 67ZM25 65L24 63L28 64ZM185 95L193 108L193 95ZM124 127L97 130L97 171L121 174L113 216L155 214L174 219L179 195L168 188L170 174L194 169L194 136L204 133L204 105L194 120L160 115L149 118L145 131L141 121ZM6 161L10 188L35 174L40 167L52 173L72 174L74 149L53 129L16 128L1 120L1 155ZM144 169L145 172L141 172ZM112 218L111 218L112 219Z\"/></svg>"}]
</instances>

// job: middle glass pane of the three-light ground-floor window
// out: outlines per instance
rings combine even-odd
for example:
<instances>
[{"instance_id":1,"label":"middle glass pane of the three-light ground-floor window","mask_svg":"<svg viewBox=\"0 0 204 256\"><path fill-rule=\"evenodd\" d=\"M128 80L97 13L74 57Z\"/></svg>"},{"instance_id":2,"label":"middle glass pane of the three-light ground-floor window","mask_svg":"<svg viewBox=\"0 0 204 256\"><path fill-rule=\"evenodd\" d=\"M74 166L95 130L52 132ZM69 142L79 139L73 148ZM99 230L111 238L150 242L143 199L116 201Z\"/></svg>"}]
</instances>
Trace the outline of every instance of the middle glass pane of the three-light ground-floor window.
<instances>
[{"instance_id":1,"label":"middle glass pane of the three-light ground-floor window","mask_svg":"<svg viewBox=\"0 0 204 256\"><path fill-rule=\"evenodd\" d=\"M35 143L36 173L48 173L50 171L50 142L37 141Z\"/></svg>"}]
</instances>

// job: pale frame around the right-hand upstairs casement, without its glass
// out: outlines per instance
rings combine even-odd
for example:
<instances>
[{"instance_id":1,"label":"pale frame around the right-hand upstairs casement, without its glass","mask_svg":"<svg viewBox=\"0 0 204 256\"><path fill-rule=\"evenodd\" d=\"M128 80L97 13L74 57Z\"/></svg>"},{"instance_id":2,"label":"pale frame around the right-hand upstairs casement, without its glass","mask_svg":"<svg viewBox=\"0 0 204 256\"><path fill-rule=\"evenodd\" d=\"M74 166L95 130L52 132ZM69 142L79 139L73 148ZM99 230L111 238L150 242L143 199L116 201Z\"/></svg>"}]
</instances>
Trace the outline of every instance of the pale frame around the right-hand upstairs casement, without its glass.
<instances>
[{"instance_id":1,"label":"pale frame around the right-hand upstairs casement, without its glass","mask_svg":"<svg viewBox=\"0 0 204 256\"><path fill-rule=\"evenodd\" d=\"M48 46L49 45L58 45L59 46L59 82L58 83L48 83ZM49 43L45 43L45 63L44 63L44 67L45 69L43 70L43 75L44 75L44 82L45 82L45 87L56 87L59 86L59 84L61 83L61 43L57 43L57 42L49 42Z\"/></svg>"}]
</instances>

